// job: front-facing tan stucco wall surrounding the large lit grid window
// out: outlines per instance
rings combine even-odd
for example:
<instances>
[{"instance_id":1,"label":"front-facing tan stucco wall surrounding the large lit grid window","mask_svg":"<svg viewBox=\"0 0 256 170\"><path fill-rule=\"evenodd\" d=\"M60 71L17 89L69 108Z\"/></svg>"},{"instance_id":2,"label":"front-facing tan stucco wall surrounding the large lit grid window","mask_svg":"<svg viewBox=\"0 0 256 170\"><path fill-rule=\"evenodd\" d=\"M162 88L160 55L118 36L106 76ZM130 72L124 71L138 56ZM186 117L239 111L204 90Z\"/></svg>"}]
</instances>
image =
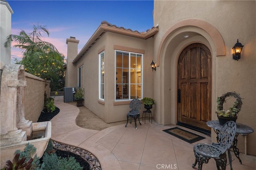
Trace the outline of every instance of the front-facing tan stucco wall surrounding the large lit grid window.
<instances>
[{"instance_id":1,"label":"front-facing tan stucco wall surrounding the large lit grid window","mask_svg":"<svg viewBox=\"0 0 256 170\"><path fill-rule=\"evenodd\" d=\"M143 96L148 96L152 97L152 88L153 88L153 72L152 69L150 68L150 63L152 62L152 53L150 49L150 40L143 40L143 39L138 39L134 37L128 37L125 35L118 35L115 33L108 33L108 49L109 51L106 53L108 55L108 68L107 70L111 70L113 74L110 74L110 77L108 77L108 121L109 122L115 122L115 121L120 121L120 120L126 120L126 115L127 112L130 110L129 108L129 102L128 104L125 105L119 105L116 106L114 105L114 100L115 100L115 86L114 86L114 80L115 80L115 51L113 49L114 45L120 45L123 47L130 47L134 49L142 49L145 50L145 53L143 54ZM118 43L117 43L118 42ZM150 44L150 45L149 45ZM152 46L151 46L152 49ZM147 67L148 65L148 67ZM109 82L111 81L111 82ZM118 102L116 102L118 103ZM141 112L144 108L142 107Z\"/></svg>"}]
</instances>

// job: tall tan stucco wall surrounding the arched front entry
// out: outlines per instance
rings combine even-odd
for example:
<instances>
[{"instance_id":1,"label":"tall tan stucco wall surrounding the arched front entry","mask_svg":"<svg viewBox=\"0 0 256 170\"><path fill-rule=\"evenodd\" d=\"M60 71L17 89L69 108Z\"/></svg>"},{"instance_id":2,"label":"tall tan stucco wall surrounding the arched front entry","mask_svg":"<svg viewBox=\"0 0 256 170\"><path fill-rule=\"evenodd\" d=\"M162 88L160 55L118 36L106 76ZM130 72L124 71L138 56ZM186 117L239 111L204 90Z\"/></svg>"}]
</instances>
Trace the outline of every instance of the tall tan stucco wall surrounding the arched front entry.
<instances>
[{"instance_id":1,"label":"tall tan stucco wall surrounding the arched front entry","mask_svg":"<svg viewBox=\"0 0 256 170\"><path fill-rule=\"evenodd\" d=\"M176 124L177 59L184 47L200 42L212 53L212 119L217 118L216 98L235 91L243 98L237 122L256 130L255 9L255 1L154 1L154 25L159 24L154 37L154 60L159 57L160 64L154 74L154 98L161 103L155 111L159 124ZM172 29L177 24L180 26ZM217 29L222 39L210 27ZM186 33L191 34L188 39L183 37ZM244 45L239 61L232 59L237 39ZM224 53L219 51L221 41ZM255 132L248 135L248 154L256 155L255 140ZM241 135L237 147L244 152Z\"/></svg>"}]
</instances>

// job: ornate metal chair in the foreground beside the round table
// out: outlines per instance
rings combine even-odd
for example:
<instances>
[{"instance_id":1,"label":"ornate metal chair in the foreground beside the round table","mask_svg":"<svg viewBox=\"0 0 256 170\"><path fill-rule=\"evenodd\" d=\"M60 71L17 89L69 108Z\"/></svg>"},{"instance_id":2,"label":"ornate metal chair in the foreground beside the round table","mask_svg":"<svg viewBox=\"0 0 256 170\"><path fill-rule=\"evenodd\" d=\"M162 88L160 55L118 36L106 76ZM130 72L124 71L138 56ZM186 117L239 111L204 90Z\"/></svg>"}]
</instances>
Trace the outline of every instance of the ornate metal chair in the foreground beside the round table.
<instances>
[{"instance_id":1,"label":"ornate metal chair in the foreground beside the round table","mask_svg":"<svg viewBox=\"0 0 256 170\"><path fill-rule=\"evenodd\" d=\"M230 147L236 135L236 123L234 121L228 121L225 123L218 134L220 139L219 143L212 143L212 145L206 143L198 143L194 145L194 154L196 157L195 163L192 167L198 163L198 170L202 170L202 164L208 163L210 158L214 158L218 170L226 170L227 156L226 150L228 150L229 164L232 170Z\"/></svg>"}]
</instances>

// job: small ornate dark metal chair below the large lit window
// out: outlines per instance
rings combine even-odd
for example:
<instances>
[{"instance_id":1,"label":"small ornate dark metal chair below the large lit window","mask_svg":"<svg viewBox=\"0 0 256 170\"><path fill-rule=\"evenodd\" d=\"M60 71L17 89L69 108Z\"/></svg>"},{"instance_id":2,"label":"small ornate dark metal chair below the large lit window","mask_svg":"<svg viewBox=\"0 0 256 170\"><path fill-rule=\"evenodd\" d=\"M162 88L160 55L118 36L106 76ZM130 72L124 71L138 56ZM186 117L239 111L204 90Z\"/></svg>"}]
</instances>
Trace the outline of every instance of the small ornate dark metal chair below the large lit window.
<instances>
[{"instance_id":1,"label":"small ornate dark metal chair below the large lit window","mask_svg":"<svg viewBox=\"0 0 256 170\"><path fill-rule=\"evenodd\" d=\"M134 118L135 129L138 129L138 128L137 128L137 124L136 124L136 119L139 118L139 123L140 123L140 111L139 111L139 109L141 108L141 102L140 102L140 100L138 100L138 99L133 99L133 100L130 102L130 108L131 108L132 110L130 110L130 111L127 113L127 122L126 122L125 127L127 127L128 119L129 119L129 117L131 117L130 123L132 123L132 118ZM140 123L140 125L141 125L141 123Z\"/></svg>"}]
</instances>

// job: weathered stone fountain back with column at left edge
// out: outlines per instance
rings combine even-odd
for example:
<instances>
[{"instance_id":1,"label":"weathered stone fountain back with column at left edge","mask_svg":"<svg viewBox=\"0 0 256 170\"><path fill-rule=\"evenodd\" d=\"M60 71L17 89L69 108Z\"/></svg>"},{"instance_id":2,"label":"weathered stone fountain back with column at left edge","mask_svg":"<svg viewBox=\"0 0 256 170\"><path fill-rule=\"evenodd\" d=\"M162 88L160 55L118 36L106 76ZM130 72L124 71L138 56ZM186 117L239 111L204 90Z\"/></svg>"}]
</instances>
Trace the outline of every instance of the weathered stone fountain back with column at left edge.
<instances>
[{"instance_id":1,"label":"weathered stone fountain back with column at left edge","mask_svg":"<svg viewBox=\"0 0 256 170\"><path fill-rule=\"evenodd\" d=\"M4 66L1 80L1 136L0 146L26 141L26 132L17 128L17 90L20 87L18 73L23 65L7 64ZM25 78L21 78L25 80ZM19 109L19 108L18 108Z\"/></svg>"}]
</instances>

